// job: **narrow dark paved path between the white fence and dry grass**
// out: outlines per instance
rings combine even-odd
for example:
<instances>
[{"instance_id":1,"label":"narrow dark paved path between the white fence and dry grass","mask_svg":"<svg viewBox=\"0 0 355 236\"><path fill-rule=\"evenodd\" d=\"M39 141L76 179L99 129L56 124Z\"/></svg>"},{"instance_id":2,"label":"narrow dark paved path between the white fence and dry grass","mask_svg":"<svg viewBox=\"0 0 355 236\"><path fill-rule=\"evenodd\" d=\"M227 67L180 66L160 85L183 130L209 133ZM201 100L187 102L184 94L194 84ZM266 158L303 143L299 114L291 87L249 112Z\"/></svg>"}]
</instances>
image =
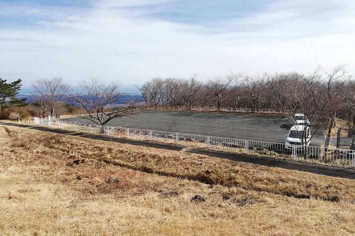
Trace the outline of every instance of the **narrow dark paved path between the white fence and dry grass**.
<instances>
[{"instance_id":1,"label":"narrow dark paved path between the white fence and dry grass","mask_svg":"<svg viewBox=\"0 0 355 236\"><path fill-rule=\"evenodd\" d=\"M245 162L245 163L251 163L251 164L256 164L256 165L262 165L262 166L266 166L266 167L278 167L278 168L282 168L282 169L286 169L286 170L309 172L309 173L313 173L313 174L317 174L317 175L355 179L355 170L354 169L330 167L330 166L303 163L303 162L297 162L297 161L291 161L291 160L285 160L285 159L275 159L275 158L269 158L269 157L253 156L253 155L249 155L249 154L229 153L229 152L206 150L206 149L186 148L185 146L181 146L181 145L150 142L150 141L138 141L138 140L127 139L127 138L115 138L115 137L110 137L110 136L105 136L105 135L95 135L95 134L88 134L88 133L83 133L83 132L73 132L73 131L68 131L68 130L63 130L63 129L30 125L30 124L24 124L24 123L0 122L0 124L7 125L7 126L31 128L31 129L36 129L36 130L40 130L40 131L60 133L60 134L65 134L65 135L80 136L80 137L90 138L90 139L111 141L111 142L117 142L117 143L125 143L125 144L137 145L137 146L168 149L168 150L173 150L173 151L183 151L186 153L207 155L210 157L223 158L223 159L228 159L228 160L232 160L232 161L236 161L236 162Z\"/></svg>"}]
</instances>

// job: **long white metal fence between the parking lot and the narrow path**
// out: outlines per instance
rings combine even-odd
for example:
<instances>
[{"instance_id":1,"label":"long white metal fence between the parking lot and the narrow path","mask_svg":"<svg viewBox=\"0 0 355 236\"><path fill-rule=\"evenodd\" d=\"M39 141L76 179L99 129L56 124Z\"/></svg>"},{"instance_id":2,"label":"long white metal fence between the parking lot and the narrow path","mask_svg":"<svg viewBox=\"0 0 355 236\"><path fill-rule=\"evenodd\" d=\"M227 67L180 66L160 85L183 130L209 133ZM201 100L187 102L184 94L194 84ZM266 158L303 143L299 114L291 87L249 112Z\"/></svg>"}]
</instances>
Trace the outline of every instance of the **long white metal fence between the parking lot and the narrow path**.
<instances>
[{"instance_id":1,"label":"long white metal fence between the parking lot and the narrow path","mask_svg":"<svg viewBox=\"0 0 355 236\"><path fill-rule=\"evenodd\" d=\"M100 132L100 127L98 125L73 123L60 121L59 119L51 120L49 118L37 117L34 118L34 123L38 125L92 134L105 134L114 137L125 137L138 140L155 140L159 142L178 143L188 147L223 150L232 153L245 153L264 157L292 159L332 166L355 167L355 150L349 149L299 145L291 145L291 148L287 149L285 148L284 143L116 126L104 126L102 133Z\"/></svg>"}]
</instances>

